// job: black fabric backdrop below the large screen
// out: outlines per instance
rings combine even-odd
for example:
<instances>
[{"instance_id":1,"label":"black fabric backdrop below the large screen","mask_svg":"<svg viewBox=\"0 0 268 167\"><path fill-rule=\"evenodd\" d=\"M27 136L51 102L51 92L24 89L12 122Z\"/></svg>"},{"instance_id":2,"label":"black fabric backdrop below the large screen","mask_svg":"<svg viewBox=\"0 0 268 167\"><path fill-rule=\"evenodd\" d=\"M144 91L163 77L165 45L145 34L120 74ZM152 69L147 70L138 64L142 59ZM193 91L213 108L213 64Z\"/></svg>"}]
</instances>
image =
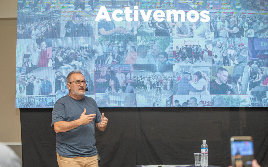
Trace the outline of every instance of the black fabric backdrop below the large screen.
<instances>
[{"instance_id":1,"label":"black fabric backdrop below the large screen","mask_svg":"<svg viewBox=\"0 0 268 167\"><path fill-rule=\"evenodd\" d=\"M108 127L96 129L100 167L194 164L202 140L209 164L230 165L229 138L254 138L255 158L268 162L268 112L252 108L100 108ZM82 111L81 111L82 113ZM57 166L52 108L20 108L23 166Z\"/></svg>"}]
</instances>

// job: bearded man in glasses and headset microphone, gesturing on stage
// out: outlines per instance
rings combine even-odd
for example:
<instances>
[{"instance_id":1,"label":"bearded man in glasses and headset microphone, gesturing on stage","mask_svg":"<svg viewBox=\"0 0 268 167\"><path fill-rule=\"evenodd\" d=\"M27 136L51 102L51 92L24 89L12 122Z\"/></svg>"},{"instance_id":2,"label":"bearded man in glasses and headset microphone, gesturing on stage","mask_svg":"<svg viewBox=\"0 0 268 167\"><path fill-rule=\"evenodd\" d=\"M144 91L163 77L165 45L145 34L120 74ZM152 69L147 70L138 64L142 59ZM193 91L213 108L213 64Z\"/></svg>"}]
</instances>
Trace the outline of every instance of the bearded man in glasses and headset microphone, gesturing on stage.
<instances>
[{"instance_id":1,"label":"bearded man in glasses and headset microphone, gesturing on stage","mask_svg":"<svg viewBox=\"0 0 268 167\"><path fill-rule=\"evenodd\" d=\"M58 165L98 167L94 124L103 131L108 119L94 99L84 96L87 81L81 71L70 72L66 81L69 94L58 99L52 111Z\"/></svg>"}]
</instances>

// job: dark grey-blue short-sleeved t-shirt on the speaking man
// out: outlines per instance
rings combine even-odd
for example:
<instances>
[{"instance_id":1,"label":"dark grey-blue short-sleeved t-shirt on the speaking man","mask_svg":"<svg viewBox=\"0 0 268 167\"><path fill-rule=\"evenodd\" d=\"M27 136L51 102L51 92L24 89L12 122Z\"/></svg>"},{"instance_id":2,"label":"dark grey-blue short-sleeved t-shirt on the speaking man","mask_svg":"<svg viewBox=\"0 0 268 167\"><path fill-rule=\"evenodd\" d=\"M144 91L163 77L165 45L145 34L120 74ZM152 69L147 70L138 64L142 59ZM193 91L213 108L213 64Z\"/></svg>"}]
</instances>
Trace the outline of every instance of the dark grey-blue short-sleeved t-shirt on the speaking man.
<instances>
[{"instance_id":1,"label":"dark grey-blue short-sleeved t-shirt on the speaking man","mask_svg":"<svg viewBox=\"0 0 268 167\"><path fill-rule=\"evenodd\" d=\"M92 122L80 125L66 132L56 133L56 152L63 157L91 157L97 154L95 146L95 123L101 122L101 113L94 99L83 96L75 100L69 95L58 99L52 111L52 123L79 119L86 109L86 115L96 114Z\"/></svg>"}]
</instances>

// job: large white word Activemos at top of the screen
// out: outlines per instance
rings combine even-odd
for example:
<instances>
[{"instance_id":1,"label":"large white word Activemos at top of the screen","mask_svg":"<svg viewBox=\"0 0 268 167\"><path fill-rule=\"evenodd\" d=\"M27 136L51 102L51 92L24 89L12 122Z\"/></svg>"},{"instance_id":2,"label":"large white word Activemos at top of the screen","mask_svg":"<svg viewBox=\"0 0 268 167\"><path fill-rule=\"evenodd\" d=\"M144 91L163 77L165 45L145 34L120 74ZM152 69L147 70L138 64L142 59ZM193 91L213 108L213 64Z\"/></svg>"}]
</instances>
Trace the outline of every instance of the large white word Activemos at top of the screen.
<instances>
[{"instance_id":1,"label":"large white word Activemos at top of the screen","mask_svg":"<svg viewBox=\"0 0 268 167\"><path fill-rule=\"evenodd\" d=\"M117 14L122 14L125 13L125 19L126 21L139 21L139 12L142 16L143 21L149 21L149 18L152 14L152 10L148 10L147 13L143 9L139 9L138 6L134 6L134 11L132 9L129 9L129 7L125 7L124 11L121 9L116 9L113 12L111 12L112 18L114 21L122 21L122 17L117 17ZM132 14L134 15L134 19L132 18ZM166 21L171 21L171 15L173 14L174 16L174 21L178 21L178 14L181 16L181 22L185 22L185 11L183 10L166 10L166 14L163 10L155 10L153 13L154 20L157 22L161 22L165 20L165 15L166 15ZM194 17L192 17L194 15ZM187 20L190 22L196 22L199 20L199 13L198 11L195 10L190 10L186 14ZM200 21L201 22L209 22L210 17L209 17L209 11L207 10L202 10L200 12ZM110 15L106 9L105 6L101 6L98 14L95 18L95 21L99 21L100 19L106 19L107 21L111 21Z\"/></svg>"}]
</instances>

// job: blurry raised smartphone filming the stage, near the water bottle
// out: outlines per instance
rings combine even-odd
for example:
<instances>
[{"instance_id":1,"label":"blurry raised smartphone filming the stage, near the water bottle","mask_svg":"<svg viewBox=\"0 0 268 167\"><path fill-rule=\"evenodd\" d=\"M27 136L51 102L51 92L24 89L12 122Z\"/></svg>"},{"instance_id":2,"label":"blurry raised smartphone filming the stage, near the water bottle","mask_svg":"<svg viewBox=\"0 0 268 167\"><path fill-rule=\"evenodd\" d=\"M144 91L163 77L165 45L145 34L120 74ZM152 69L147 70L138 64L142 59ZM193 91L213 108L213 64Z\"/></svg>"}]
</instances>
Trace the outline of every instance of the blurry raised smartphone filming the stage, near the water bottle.
<instances>
[{"instance_id":1,"label":"blurry raised smartphone filming the stage, near the water bottle","mask_svg":"<svg viewBox=\"0 0 268 167\"><path fill-rule=\"evenodd\" d=\"M253 138L233 136L230 138L231 161L233 167L251 167L254 160Z\"/></svg>"}]
</instances>

